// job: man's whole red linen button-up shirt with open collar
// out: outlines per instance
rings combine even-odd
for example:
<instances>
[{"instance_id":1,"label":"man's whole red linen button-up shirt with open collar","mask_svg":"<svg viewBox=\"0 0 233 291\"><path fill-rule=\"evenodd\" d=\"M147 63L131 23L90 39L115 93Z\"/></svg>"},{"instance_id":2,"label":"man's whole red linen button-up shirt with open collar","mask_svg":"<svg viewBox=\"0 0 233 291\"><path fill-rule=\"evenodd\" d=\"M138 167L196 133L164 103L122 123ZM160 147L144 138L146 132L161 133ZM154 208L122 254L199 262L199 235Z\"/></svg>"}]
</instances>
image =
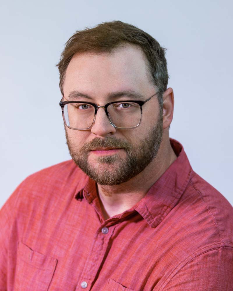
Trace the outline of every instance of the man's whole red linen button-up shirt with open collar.
<instances>
[{"instance_id":1,"label":"man's whole red linen button-up shirt with open collar","mask_svg":"<svg viewBox=\"0 0 233 291\"><path fill-rule=\"evenodd\" d=\"M72 160L24 180L0 212L0 290L232 291L233 208L170 142L178 158L106 221Z\"/></svg>"}]
</instances>

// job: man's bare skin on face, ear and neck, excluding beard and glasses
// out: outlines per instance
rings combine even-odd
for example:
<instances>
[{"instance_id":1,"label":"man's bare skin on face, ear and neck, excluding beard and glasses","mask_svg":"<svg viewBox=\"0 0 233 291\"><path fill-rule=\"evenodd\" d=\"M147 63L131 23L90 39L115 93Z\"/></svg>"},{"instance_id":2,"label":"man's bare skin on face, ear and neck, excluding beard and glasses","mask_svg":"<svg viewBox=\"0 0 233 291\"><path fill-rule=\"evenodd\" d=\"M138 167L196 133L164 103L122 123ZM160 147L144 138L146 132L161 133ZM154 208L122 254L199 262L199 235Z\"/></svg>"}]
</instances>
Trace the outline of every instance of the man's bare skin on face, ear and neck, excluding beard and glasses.
<instances>
[{"instance_id":1,"label":"man's bare skin on face, ear and neck, excluding beard and glasses","mask_svg":"<svg viewBox=\"0 0 233 291\"><path fill-rule=\"evenodd\" d=\"M64 101L71 100L68 97L70 92L79 91L88 95L91 99L80 96L77 99L72 98L72 100L89 101L103 106L107 102L126 100L125 97L112 98L109 96L111 93L135 91L144 96L141 100L146 100L157 90L148 75L145 57L141 49L126 45L115 49L111 54L83 53L74 56L66 71L63 91ZM173 110L173 90L168 88L163 94L163 140L156 157L140 174L128 182L114 186L98 185L98 195L105 219L133 207L146 195L148 189L177 158L169 141L168 127L172 122ZM137 145L156 125L158 114L157 97L152 97L143 106L141 124L134 129L114 128L109 123L104 109L100 108L91 129L79 131L66 127L66 133L77 150L95 137L113 136ZM97 162L98 155L111 155L113 153L116 153L116 151L90 152L88 162L93 167L98 167L100 171L104 167L117 166L118 160L114 162L114 165ZM117 154L122 158L126 156L123 149L118 149Z\"/></svg>"}]
</instances>

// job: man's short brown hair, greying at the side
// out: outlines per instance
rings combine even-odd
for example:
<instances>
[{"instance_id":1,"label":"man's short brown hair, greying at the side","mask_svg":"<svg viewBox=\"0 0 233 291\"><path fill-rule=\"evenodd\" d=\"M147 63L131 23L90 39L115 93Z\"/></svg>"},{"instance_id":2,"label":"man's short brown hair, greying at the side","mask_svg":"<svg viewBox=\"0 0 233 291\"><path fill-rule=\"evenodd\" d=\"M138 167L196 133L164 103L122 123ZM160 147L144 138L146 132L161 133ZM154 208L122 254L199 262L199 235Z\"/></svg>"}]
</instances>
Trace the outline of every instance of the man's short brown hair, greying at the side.
<instances>
[{"instance_id":1,"label":"man's short brown hair, greying at the side","mask_svg":"<svg viewBox=\"0 0 233 291\"><path fill-rule=\"evenodd\" d=\"M165 48L161 47L148 33L121 21L104 22L90 29L76 31L66 42L65 49L61 53L60 62L57 64L62 95L66 69L75 54L112 52L114 48L123 43L141 47L148 60L152 81L158 88L160 106L163 106L163 92L167 89L168 83Z\"/></svg>"}]
</instances>

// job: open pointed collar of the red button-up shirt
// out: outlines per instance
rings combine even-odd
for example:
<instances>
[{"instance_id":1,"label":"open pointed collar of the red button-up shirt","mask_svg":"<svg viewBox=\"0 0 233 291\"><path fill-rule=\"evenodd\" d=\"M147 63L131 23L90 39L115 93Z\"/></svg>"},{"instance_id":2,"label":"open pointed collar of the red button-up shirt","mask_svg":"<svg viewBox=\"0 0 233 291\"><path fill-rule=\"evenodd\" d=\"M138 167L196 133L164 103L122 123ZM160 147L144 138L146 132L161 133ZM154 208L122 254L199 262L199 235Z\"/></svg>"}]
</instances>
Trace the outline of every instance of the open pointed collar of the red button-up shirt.
<instances>
[{"instance_id":1,"label":"open pointed collar of the red button-up shirt","mask_svg":"<svg viewBox=\"0 0 233 291\"><path fill-rule=\"evenodd\" d=\"M192 168L183 146L175 139L170 139L170 143L177 159L151 186L144 198L115 218L123 218L136 210L151 228L155 228L178 203L190 180ZM84 197L91 203L96 196L96 182L86 177L82 185L77 187L75 198L80 200Z\"/></svg>"}]
</instances>

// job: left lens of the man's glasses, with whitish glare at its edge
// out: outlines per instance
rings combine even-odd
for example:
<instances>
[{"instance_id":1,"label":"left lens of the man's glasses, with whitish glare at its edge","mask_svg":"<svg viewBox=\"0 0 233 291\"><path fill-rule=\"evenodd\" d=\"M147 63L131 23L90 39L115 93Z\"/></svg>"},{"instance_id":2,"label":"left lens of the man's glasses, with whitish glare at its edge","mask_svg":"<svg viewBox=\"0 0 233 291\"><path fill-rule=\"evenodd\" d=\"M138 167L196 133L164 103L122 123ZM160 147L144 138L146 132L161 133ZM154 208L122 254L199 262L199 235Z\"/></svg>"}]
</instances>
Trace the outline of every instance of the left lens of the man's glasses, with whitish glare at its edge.
<instances>
[{"instance_id":1,"label":"left lens of the man's glasses, with whitish glare at its edge","mask_svg":"<svg viewBox=\"0 0 233 291\"><path fill-rule=\"evenodd\" d=\"M95 108L85 103L69 103L64 106L64 119L68 127L87 129L94 120Z\"/></svg>"}]
</instances>

